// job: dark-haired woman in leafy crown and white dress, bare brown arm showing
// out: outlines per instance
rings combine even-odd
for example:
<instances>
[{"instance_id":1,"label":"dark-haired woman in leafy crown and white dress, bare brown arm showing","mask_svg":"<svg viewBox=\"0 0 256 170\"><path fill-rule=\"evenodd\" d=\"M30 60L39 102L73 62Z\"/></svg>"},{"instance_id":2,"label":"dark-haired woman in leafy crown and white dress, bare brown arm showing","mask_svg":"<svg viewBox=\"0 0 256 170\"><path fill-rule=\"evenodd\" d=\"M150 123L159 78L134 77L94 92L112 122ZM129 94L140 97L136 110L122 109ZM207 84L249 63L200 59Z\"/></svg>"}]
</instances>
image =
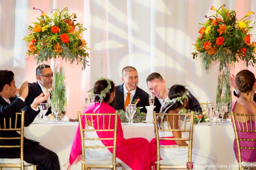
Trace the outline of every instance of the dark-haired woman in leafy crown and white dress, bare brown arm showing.
<instances>
[{"instance_id":1,"label":"dark-haired woman in leafy crown and white dress, bare brown arm showing","mask_svg":"<svg viewBox=\"0 0 256 170\"><path fill-rule=\"evenodd\" d=\"M162 104L160 109L160 113L180 113L180 110L183 108L188 108L188 100L189 100L189 91L186 87L182 85L173 85L168 92L168 98ZM167 127L167 118L166 115L163 115L164 127ZM168 116L169 125L173 128L173 117ZM157 117L157 125L158 128L163 128L161 125L160 117ZM176 129L176 125L178 125L178 116L174 117L174 125ZM183 121L180 120L181 129L183 127ZM189 126L186 126L189 128ZM177 127L178 129L178 127ZM168 132L168 131L159 131L159 138L182 138L182 133L178 131ZM177 146L188 146L188 143L185 140L163 140L160 141L160 145L177 145ZM156 139L153 138L150 141L150 151L151 151L151 165L154 169L156 169L155 161L156 161ZM172 162L184 163L188 161L188 148L160 148L160 156L162 160L170 160ZM207 158L203 154L199 153L198 150L192 149L192 162L194 162L196 169L199 170L215 170L214 163L211 161L211 158ZM202 165L202 166L201 166ZM210 165L210 166L209 166Z\"/></svg>"}]
</instances>

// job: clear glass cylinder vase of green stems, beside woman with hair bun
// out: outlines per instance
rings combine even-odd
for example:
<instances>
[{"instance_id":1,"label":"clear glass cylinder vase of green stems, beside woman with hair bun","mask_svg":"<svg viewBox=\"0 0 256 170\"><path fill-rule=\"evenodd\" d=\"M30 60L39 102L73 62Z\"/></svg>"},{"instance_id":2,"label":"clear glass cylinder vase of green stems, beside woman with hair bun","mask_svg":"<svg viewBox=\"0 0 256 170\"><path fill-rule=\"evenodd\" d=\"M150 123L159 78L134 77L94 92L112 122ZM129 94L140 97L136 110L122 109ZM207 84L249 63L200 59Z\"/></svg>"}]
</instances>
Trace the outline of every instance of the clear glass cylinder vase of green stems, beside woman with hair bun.
<instances>
[{"instance_id":1,"label":"clear glass cylinder vase of green stems, beside woman with hair bun","mask_svg":"<svg viewBox=\"0 0 256 170\"><path fill-rule=\"evenodd\" d=\"M230 83L230 68L229 66L219 69L218 85L217 85L217 97L216 104L217 110L224 112L223 120L227 120L232 110L231 99L231 83ZM219 115L221 118L221 115Z\"/></svg>"}]
</instances>

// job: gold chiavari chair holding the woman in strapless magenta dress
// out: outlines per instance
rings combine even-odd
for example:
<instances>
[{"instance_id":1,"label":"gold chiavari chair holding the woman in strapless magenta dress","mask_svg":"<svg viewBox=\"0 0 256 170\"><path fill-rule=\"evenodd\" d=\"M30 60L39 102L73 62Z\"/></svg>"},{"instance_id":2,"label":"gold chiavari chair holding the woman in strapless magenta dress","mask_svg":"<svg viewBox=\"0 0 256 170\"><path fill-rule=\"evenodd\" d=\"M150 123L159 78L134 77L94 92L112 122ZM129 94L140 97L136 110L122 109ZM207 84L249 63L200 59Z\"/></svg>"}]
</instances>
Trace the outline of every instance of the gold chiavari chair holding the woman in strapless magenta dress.
<instances>
[{"instance_id":1,"label":"gold chiavari chair holding the woman in strapless magenta dress","mask_svg":"<svg viewBox=\"0 0 256 170\"><path fill-rule=\"evenodd\" d=\"M255 149L256 147L243 147L240 145L240 141L255 141L256 139L244 139L240 138L238 135L238 132L244 132L244 133L256 133L256 130L252 130L252 122L254 124L254 127L256 127L256 114L234 114L231 112L232 115L232 123L234 128L234 133L236 137L237 142L237 153L238 153L238 164L239 164L239 170L247 169L249 165L254 165L254 169L256 169L256 162L242 162L241 159L241 149ZM250 129L248 130L248 121L250 121ZM238 127L236 125L236 122L238 123ZM242 126L240 125L242 123ZM246 127L244 126L244 123L246 124ZM250 169L253 169L252 167Z\"/></svg>"}]
</instances>

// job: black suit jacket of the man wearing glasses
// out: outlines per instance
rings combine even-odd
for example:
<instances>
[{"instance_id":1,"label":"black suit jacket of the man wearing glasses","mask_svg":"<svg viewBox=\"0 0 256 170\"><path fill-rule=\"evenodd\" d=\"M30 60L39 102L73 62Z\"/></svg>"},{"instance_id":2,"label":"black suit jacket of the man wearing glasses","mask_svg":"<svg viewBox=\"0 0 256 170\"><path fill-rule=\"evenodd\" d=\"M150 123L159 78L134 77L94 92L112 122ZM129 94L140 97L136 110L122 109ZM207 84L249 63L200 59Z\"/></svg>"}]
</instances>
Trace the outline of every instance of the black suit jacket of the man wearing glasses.
<instances>
[{"instance_id":1,"label":"black suit jacket of the man wearing glasses","mask_svg":"<svg viewBox=\"0 0 256 170\"><path fill-rule=\"evenodd\" d=\"M28 96L25 100L26 106L23 108L23 110L26 112L30 104L33 103L34 99L39 96L42 92L41 87L39 86L38 82L35 83L28 83ZM47 101L45 100L43 103L46 103ZM48 111L46 112L45 115L49 115L51 113L51 107L48 108Z\"/></svg>"}]
</instances>

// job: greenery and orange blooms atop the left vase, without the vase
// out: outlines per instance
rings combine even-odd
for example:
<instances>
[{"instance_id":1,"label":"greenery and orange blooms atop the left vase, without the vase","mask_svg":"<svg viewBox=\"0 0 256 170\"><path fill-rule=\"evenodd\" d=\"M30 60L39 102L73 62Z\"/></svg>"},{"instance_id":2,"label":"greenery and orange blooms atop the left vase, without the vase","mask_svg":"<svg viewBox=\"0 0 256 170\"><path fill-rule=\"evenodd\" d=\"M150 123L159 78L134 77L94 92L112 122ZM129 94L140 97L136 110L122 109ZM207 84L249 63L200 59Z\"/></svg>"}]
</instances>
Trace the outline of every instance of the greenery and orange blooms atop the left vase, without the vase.
<instances>
[{"instance_id":1,"label":"greenery and orange blooms atop the left vase, without the vase","mask_svg":"<svg viewBox=\"0 0 256 170\"><path fill-rule=\"evenodd\" d=\"M83 28L83 24L74 24L76 18L76 14L70 14L67 8L64 8L62 11L54 10L52 17L42 13L37 18L38 22L32 22L34 26L28 26L28 30L32 33L23 38L30 47L26 55L35 56L37 63L56 58L56 56L63 56L71 64L73 62L77 62L77 64L82 63L82 70L84 70L86 66L89 66L88 50L91 49L87 47L85 40L82 40L80 37L80 34L86 29ZM34 30L35 26L40 26L41 31ZM53 26L58 27L59 32L53 33L51 31ZM74 27L75 29L73 29ZM68 43L62 42L60 38L60 35L64 33L69 37ZM56 47L59 48L55 50Z\"/></svg>"}]
</instances>

